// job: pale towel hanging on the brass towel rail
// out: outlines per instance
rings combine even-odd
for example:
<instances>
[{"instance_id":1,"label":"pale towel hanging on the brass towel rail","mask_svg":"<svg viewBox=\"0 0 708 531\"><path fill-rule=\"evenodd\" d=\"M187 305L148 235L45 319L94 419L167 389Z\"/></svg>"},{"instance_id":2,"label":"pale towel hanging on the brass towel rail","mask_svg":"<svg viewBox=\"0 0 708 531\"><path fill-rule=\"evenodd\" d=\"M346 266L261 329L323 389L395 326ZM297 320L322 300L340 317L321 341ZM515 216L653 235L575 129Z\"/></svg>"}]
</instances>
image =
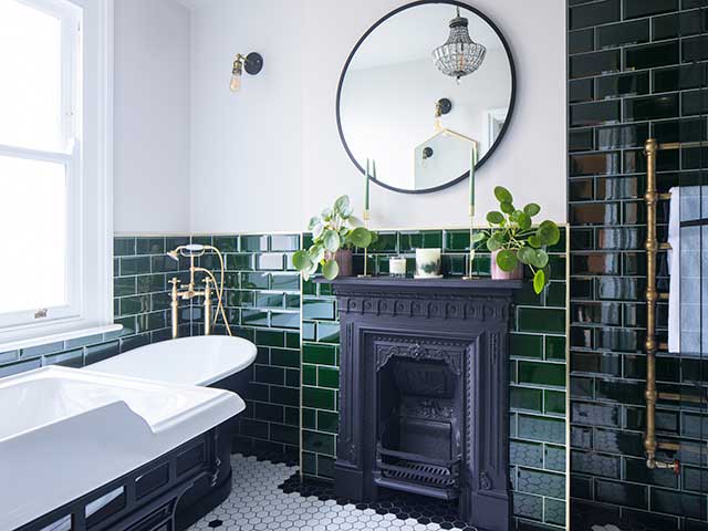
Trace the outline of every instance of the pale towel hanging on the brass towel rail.
<instances>
[{"instance_id":1,"label":"pale towel hanging on the brass towel rail","mask_svg":"<svg viewBox=\"0 0 708 531\"><path fill-rule=\"evenodd\" d=\"M708 352L708 226L681 222L708 218L708 197L700 186L670 191L668 348L700 355Z\"/></svg>"}]
</instances>

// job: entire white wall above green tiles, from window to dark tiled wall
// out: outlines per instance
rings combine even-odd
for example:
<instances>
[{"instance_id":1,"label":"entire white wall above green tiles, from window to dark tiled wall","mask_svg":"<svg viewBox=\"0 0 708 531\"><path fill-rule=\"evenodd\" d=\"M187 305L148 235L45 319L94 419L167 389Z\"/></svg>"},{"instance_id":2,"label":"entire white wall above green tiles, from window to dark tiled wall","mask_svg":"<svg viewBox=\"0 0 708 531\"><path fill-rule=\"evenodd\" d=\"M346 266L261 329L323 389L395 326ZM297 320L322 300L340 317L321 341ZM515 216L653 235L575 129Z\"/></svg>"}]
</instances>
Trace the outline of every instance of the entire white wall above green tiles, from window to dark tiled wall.
<instances>
[{"instance_id":1,"label":"entire white wall above green tiles, from window to dark tiled wall","mask_svg":"<svg viewBox=\"0 0 708 531\"><path fill-rule=\"evenodd\" d=\"M337 195L361 207L336 86L360 37L406 0L183 3L116 2L116 230L301 230ZM565 2L473 6L507 37L518 76L509 132L478 174L478 211L501 184L565 221ZM263 71L233 95L233 55L251 51ZM373 186L372 222L464 226L466 198L466 184L421 196Z\"/></svg>"}]
</instances>

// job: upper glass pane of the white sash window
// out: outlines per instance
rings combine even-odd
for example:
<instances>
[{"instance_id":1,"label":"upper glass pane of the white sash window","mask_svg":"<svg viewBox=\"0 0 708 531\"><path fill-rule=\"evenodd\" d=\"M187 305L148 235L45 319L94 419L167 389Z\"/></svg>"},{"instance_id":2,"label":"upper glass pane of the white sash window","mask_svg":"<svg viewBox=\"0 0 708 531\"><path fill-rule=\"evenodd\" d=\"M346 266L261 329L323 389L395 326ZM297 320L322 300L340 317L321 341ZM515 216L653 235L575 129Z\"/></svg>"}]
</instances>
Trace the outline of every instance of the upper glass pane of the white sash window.
<instances>
[{"instance_id":1,"label":"upper glass pane of the white sash window","mask_svg":"<svg viewBox=\"0 0 708 531\"><path fill-rule=\"evenodd\" d=\"M61 21L0 0L0 144L62 146Z\"/></svg>"}]
</instances>

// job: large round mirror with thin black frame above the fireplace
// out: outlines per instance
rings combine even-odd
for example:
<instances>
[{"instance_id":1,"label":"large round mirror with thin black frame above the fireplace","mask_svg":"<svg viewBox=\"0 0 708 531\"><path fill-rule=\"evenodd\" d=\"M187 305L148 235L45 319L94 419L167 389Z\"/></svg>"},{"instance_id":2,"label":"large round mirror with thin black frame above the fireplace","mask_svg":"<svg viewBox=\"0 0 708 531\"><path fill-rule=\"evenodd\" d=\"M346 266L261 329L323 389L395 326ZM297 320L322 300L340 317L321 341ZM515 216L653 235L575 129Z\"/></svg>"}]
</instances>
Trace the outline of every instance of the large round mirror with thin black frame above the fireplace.
<instances>
[{"instance_id":1,"label":"large round mirror with thin black frame above the fireplace","mask_svg":"<svg viewBox=\"0 0 708 531\"><path fill-rule=\"evenodd\" d=\"M447 0L388 13L356 43L336 114L352 162L386 188L419 194L454 185L499 145L513 110L514 66L499 29ZM475 153L473 153L475 152Z\"/></svg>"}]
</instances>

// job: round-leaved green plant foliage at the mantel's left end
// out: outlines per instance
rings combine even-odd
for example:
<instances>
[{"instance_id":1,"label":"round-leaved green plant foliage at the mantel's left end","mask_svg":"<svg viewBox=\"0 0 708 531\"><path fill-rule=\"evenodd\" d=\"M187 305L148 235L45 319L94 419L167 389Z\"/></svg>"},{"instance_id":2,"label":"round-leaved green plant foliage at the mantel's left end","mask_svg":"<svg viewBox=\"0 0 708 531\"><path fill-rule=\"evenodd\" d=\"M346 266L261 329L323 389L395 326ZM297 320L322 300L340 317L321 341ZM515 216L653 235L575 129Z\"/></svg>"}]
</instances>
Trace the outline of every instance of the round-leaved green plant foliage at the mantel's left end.
<instances>
[{"instance_id":1,"label":"round-leaved green plant foliage at the mantel's left end","mask_svg":"<svg viewBox=\"0 0 708 531\"><path fill-rule=\"evenodd\" d=\"M305 280L316 273L320 266L326 279L335 279L340 274L336 251L366 248L377 239L375 232L362 227L353 212L348 196L342 196L332 208L325 208L320 216L310 219L308 229L312 231L312 246L292 257L293 266Z\"/></svg>"}]
</instances>

